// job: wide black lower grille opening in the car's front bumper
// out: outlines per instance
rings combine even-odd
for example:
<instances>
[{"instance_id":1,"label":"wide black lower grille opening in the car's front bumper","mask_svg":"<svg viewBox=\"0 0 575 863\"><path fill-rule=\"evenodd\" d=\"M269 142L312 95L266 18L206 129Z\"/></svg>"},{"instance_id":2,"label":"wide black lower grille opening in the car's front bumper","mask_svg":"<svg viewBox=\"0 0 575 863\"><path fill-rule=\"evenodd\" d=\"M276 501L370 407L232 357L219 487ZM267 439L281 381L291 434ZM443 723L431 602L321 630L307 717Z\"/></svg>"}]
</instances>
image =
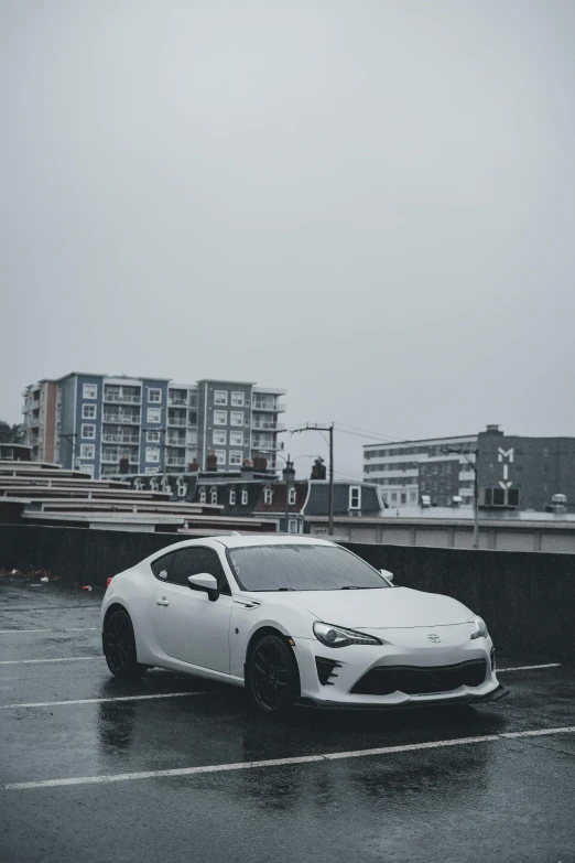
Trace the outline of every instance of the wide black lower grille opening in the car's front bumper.
<instances>
[{"instance_id":1,"label":"wide black lower grille opening in the car's front bumper","mask_svg":"<svg viewBox=\"0 0 575 863\"><path fill-rule=\"evenodd\" d=\"M355 695L427 695L432 692L451 692L459 687L478 687L484 682L487 667L485 659L471 659L456 666L381 666L372 668L358 680L351 692Z\"/></svg>"}]
</instances>

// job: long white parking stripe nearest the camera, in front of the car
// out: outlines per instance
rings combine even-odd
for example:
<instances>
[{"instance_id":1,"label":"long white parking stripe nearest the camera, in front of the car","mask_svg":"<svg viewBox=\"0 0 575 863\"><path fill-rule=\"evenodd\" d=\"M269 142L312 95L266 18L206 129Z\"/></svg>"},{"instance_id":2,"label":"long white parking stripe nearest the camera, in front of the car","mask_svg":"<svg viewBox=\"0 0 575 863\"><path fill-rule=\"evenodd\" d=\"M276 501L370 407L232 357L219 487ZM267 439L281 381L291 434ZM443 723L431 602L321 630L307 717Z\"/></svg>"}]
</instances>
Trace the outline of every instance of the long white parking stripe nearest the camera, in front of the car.
<instances>
[{"instance_id":1,"label":"long white parking stripe nearest the camera, in front of the car","mask_svg":"<svg viewBox=\"0 0 575 863\"><path fill-rule=\"evenodd\" d=\"M39 779L30 783L10 783L4 788L19 791L28 788L56 788L67 785L95 785L98 783L123 783L132 779L155 779L172 776L197 776L206 773L227 773L229 770L249 770L257 767L286 767L296 764L314 764L317 762L344 760L346 758L365 758L375 755L393 755L400 752L416 752L419 749L436 749L447 746L468 746L474 743L495 743L514 737L536 737L549 734L573 734L575 725L563 729L541 729L533 731L516 731L505 734L486 734L482 737L459 737L453 741L433 741L431 743L410 743L404 746L382 746L377 749L356 749L355 752L330 752L324 755L302 755L294 758L270 758L263 762L237 762L235 764L210 764L202 767L176 767L170 770L143 770L141 773L118 773L104 776L78 776L70 779Z\"/></svg>"}]
</instances>

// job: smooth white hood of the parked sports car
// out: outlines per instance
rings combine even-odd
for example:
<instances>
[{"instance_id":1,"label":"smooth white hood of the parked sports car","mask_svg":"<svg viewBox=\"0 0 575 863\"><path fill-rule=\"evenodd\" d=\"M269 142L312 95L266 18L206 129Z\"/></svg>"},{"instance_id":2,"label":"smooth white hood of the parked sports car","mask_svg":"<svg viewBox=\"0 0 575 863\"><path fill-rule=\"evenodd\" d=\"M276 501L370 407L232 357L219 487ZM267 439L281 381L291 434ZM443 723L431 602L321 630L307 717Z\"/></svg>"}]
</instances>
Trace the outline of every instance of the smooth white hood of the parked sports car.
<instances>
[{"instance_id":1,"label":"smooth white hood of the parked sports car","mask_svg":"<svg viewBox=\"0 0 575 863\"><path fill-rule=\"evenodd\" d=\"M349 629L448 626L468 623L474 614L457 600L410 587L367 591L301 591L290 600L324 623Z\"/></svg>"}]
</instances>

